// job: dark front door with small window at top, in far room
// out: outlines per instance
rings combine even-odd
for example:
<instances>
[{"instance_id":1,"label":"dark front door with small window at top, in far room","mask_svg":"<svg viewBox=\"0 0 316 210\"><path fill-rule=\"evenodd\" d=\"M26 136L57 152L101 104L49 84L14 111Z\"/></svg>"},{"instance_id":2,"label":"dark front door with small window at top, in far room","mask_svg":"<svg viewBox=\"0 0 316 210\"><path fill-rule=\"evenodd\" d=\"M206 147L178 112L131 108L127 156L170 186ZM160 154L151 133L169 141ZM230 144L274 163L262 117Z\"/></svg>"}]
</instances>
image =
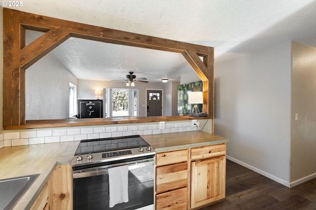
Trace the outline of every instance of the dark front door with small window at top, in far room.
<instances>
[{"instance_id":1,"label":"dark front door with small window at top, in far room","mask_svg":"<svg viewBox=\"0 0 316 210\"><path fill-rule=\"evenodd\" d=\"M147 90L147 116L162 116L162 90Z\"/></svg>"}]
</instances>

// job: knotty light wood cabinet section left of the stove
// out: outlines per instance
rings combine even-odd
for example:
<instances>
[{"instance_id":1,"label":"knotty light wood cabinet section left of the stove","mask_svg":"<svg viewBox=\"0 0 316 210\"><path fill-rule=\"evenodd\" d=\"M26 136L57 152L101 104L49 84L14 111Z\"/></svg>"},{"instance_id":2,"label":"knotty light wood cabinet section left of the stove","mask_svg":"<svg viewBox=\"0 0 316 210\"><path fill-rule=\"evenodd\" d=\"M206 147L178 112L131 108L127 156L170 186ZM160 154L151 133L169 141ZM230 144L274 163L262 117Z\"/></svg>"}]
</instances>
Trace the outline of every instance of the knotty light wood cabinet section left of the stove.
<instances>
[{"instance_id":1,"label":"knotty light wood cabinet section left of the stove","mask_svg":"<svg viewBox=\"0 0 316 210\"><path fill-rule=\"evenodd\" d=\"M58 165L45 183L30 210L72 210L72 167Z\"/></svg>"}]
</instances>

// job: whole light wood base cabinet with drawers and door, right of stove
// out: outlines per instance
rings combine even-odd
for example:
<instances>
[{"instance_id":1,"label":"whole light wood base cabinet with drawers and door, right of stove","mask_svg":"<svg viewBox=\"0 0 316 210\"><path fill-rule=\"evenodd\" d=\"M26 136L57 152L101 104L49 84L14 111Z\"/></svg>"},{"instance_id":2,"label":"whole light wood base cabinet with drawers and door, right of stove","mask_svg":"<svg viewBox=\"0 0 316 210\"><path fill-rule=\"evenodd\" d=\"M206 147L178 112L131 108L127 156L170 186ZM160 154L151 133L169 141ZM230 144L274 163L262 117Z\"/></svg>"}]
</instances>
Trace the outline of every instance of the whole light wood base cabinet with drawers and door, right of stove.
<instances>
[{"instance_id":1,"label":"whole light wood base cabinet with drawers and door, right of stove","mask_svg":"<svg viewBox=\"0 0 316 210\"><path fill-rule=\"evenodd\" d=\"M188 152L190 151L190 152ZM156 155L156 210L187 210L225 198L226 144Z\"/></svg>"}]
</instances>

